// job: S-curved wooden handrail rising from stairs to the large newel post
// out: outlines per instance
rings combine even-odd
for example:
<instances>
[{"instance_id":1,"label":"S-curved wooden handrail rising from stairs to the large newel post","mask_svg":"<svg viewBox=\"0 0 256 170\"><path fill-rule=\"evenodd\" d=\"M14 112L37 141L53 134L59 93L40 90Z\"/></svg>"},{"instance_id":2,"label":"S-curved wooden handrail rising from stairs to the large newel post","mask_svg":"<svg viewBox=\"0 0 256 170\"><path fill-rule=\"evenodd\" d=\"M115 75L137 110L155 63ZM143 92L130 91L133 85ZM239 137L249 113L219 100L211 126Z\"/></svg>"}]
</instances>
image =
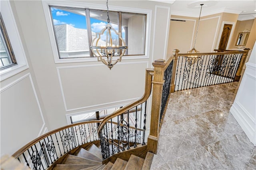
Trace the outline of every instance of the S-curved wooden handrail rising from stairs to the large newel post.
<instances>
[{"instance_id":1,"label":"S-curved wooden handrail rising from stairs to the large newel post","mask_svg":"<svg viewBox=\"0 0 256 170\"><path fill-rule=\"evenodd\" d=\"M104 125L112 118L121 115L122 113L128 111L129 109L132 109L142 103L144 103L148 97L150 96L151 93L151 89L152 89L152 76L154 75L154 69L146 69L146 80L145 80L145 91L144 91L144 95L130 103L129 105L126 105L125 107L122 107L121 109L118 109L117 111L115 111L114 113L112 113L111 115L108 115L107 117L105 117L102 122L100 123L100 126L98 127L98 134L100 134L100 131L102 130L102 128L104 127Z\"/></svg>"}]
</instances>

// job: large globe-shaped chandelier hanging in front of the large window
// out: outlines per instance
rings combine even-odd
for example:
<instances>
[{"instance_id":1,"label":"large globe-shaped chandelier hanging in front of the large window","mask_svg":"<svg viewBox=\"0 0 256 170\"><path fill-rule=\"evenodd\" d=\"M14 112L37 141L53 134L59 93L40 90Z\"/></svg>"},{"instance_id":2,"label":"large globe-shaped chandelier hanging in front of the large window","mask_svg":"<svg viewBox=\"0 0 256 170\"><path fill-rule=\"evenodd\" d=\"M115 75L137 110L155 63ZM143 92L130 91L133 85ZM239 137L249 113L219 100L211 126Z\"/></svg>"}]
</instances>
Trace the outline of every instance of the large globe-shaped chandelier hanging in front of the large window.
<instances>
[{"instance_id":1,"label":"large globe-shaped chandelier hanging in front of the large window","mask_svg":"<svg viewBox=\"0 0 256 170\"><path fill-rule=\"evenodd\" d=\"M106 6L108 24L106 24L106 28L103 28L99 33L96 33L96 37L92 40L90 48L92 53L98 58L98 61L102 61L102 63L107 65L111 70L118 61L121 61L122 56L128 47L126 46L124 39L122 39L122 34L117 32L110 25L108 0L106 2ZM101 37L106 37L106 40Z\"/></svg>"}]
</instances>

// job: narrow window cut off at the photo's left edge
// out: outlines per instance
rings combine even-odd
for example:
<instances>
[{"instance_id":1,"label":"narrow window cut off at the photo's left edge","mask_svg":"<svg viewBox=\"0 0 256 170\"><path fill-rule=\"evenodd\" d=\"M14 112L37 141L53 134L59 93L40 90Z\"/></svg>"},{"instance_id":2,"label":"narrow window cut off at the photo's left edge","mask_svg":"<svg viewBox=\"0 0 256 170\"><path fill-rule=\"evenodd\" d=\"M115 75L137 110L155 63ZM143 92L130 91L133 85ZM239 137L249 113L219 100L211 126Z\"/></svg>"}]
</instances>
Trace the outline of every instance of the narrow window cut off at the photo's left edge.
<instances>
[{"instance_id":1,"label":"narrow window cut off at the photo's left edge","mask_svg":"<svg viewBox=\"0 0 256 170\"><path fill-rule=\"evenodd\" d=\"M16 65L16 59L14 57L14 53L12 51L12 46L10 44L10 40L8 38L6 28L4 26L4 21L2 19L2 15L0 13L0 69L4 69L10 67L12 65Z\"/></svg>"}]
</instances>

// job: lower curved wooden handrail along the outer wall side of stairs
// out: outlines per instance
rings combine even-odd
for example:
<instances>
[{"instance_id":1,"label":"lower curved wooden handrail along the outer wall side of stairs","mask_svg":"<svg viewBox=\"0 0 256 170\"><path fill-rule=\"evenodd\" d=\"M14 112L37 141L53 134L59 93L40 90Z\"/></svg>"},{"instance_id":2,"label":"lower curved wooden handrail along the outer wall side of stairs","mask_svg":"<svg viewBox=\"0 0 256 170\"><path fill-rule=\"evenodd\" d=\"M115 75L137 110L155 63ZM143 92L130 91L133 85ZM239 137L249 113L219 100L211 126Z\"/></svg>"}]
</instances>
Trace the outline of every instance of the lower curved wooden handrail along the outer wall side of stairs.
<instances>
[{"instance_id":1,"label":"lower curved wooden handrail along the outer wall side of stairs","mask_svg":"<svg viewBox=\"0 0 256 170\"><path fill-rule=\"evenodd\" d=\"M57 129L54 129L46 134L43 134L41 136L39 136L38 138L35 138L34 140L32 140L31 142L29 142L28 144L26 144L25 146L23 146L22 148L20 148L17 152L15 152L14 154L12 154L12 156L14 158L18 158L23 152L25 152L28 148L30 148L31 146L33 146L34 144L36 144L38 141L46 138L47 136L50 136L51 134L54 134L56 132L59 132L60 130L64 130L66 128L70 128L70 127L74 127L77 125L82 125L82 124L88 124L88 123L100 123L102 120L99 121L86 121L86 122L80 122L80 123L74 123L71 125L66 125L64 127L60 127Z\"/></svg>"}]
</instances>

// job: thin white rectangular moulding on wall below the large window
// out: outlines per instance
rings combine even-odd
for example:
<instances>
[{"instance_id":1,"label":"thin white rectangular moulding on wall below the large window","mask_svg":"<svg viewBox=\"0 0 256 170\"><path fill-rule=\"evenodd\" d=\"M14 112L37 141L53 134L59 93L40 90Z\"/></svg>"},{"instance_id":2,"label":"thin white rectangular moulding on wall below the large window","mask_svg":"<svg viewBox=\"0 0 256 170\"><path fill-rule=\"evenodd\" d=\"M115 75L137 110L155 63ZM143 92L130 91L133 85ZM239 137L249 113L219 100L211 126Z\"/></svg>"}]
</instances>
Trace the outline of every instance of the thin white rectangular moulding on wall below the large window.
<instances>
[{"instance_id":1,"label":"thin white rectangular moulding on wall below the large window","mask_svg":"<svg viewBox=\"0 0 256 170\"><path fill-rule=\"evenodd\" d=\"M148 65L148 61L139 61L139 62L129 62L129 63L117 63L116 65L125 65L125 64L140 64L140 63L146 63ZM98 105L90 105L90 106L84 106L84 107L78 107L78 108L73 108L73 109L68 109L67 108L67 104L66 104L66 99L65 99L65 95L64 95L64 90L62 87L62 81L60 78L60 69L69 69L69 68L79 68L79 67L100 67L100 66L104 66L106 67L106 65L102 64L95 64L95 65L75 65L75 66L63 66L63 67L56 67L57 69L57 74L58 74L58 79L59 79L59 83L60 83L60 91L62 94L62 99L63 99L63 103L64 103L64 107L65 107L65 111L75 111L75 110L80 110L80 109L87 109L90 107L98 107L98 106L103 106L103 105L109 105L112 103L120 103L120 102L125 102L125 101L132 101L132 100L136 100L138 98L132 98L132 99L126 99L126 100L121 100L121 101L113 101L113 102L109 102L109 103L101 103Z\"/></svg>"}]
</instances>

